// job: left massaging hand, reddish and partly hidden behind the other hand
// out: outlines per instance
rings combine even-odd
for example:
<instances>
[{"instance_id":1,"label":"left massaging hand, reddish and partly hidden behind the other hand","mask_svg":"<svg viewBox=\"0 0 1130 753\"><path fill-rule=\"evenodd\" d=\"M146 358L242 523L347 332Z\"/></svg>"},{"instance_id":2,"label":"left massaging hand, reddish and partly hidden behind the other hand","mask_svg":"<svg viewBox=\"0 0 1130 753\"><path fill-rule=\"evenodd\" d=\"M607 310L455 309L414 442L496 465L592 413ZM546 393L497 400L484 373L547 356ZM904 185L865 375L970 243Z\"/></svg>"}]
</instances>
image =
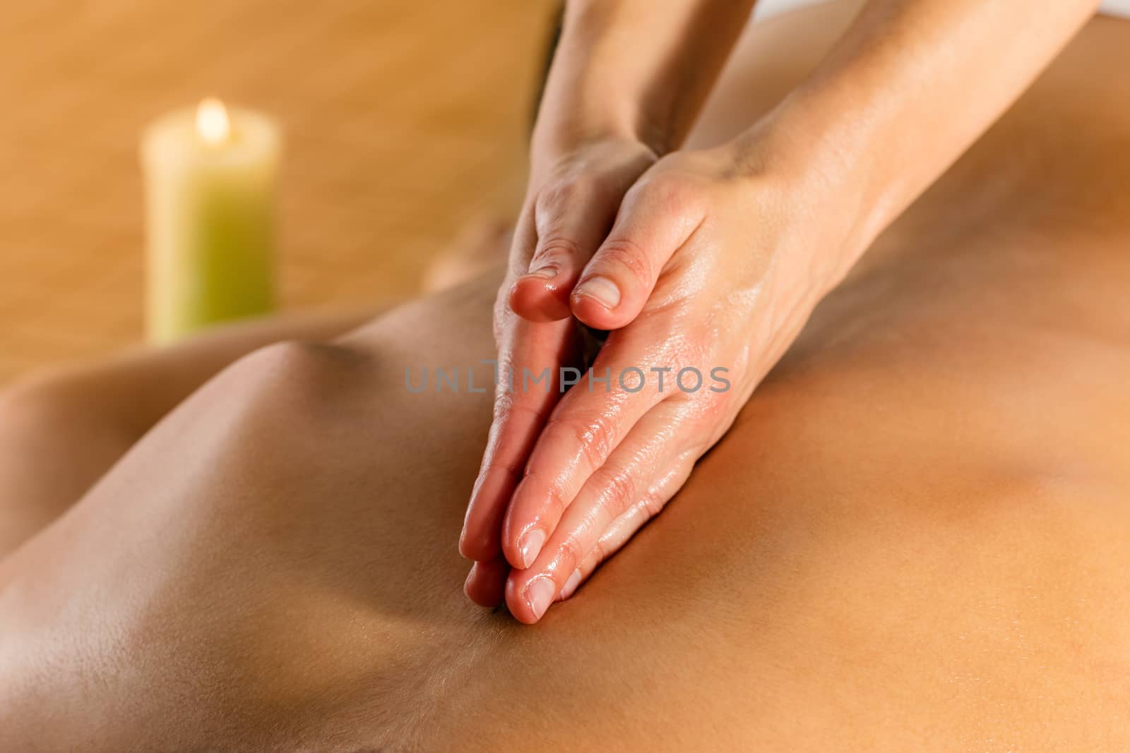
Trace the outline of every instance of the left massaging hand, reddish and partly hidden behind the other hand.
<instances>
[{"instance_id":1,"label":"left massaging hand, reddish and partly hidden behind the other hand","mask_svg":"<svg viewBox=\"0 0 1130 753\"><path fill-rule=\"evenodd\" d=\"M508 570L502 555L503 517L541 428L560 399L558 369L579 357L570 294L608 235L624 194L655 159L643 143L620 138L536 152L506 278L495 301L499 384L459 542L463 557L476 561L466 590L479 604L495 606L503 599ZM541 384L523 388L523 369L538 375L547 368L548 388ZM513 389L507 388L511 373Z\"/></svg>"}]
</instances>

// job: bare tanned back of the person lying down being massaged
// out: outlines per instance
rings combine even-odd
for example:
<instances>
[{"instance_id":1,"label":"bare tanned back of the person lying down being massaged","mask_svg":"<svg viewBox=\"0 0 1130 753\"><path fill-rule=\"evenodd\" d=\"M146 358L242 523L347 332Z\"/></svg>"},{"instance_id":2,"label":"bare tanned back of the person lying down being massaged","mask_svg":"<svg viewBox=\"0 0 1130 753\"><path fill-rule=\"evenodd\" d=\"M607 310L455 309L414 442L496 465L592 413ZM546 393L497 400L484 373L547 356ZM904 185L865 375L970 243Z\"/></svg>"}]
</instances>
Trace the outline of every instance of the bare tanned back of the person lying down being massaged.
<instances>
[{"instance_id":1,"label":"bare tanned back of the person lying down being massaged","mask_svg":"<svg viewBox=\"0 0 1130 753\"><path fill-rule=\"evenodd\" d=\"M697 138L844 12L757 29ZM460 589L489 394L403 386L492 356L496 279L242 360L0 562L0 750L1130 747L1128 45L1093 21L538 625Z\"/></svg>"}]
</instances>

